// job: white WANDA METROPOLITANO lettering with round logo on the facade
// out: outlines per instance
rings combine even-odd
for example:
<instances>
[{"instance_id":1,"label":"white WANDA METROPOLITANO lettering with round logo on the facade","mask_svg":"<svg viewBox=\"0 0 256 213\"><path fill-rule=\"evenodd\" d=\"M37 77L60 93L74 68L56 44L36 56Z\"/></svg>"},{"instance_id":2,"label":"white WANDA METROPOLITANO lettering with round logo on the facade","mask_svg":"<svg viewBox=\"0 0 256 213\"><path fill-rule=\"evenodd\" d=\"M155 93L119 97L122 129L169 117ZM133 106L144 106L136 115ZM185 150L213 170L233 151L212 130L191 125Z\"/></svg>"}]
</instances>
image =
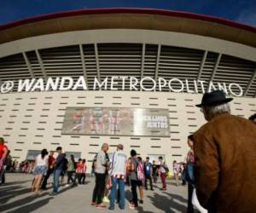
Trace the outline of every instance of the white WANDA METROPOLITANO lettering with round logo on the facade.
<instances>
[{"instance_id":1,"label":"white WANDA METROPOLITANO lettering with round logo on the facade","mask_svg":"<svg viewBox=\"0 0 256 213\"><path fill-rule=\"evenodd\" d=\"M1 93L12 92L17 84L17 92L33 91L65 91L65 90L89 90L84 76L79 78L58 77L58 78L32 78L20 79L18 81L6 81L0 84ZM171 92L181 93L202 93L216 89L222 89L227 95L242 96L243 90L238 83L207 83L202 80L158 78L151 77L138 79L136 77L111 76L99 80L94 78L92 90L126 90L131 91L162 91L170 89ZM205 89L207 88L207 90Z\"/></svg>"}]
</instances>

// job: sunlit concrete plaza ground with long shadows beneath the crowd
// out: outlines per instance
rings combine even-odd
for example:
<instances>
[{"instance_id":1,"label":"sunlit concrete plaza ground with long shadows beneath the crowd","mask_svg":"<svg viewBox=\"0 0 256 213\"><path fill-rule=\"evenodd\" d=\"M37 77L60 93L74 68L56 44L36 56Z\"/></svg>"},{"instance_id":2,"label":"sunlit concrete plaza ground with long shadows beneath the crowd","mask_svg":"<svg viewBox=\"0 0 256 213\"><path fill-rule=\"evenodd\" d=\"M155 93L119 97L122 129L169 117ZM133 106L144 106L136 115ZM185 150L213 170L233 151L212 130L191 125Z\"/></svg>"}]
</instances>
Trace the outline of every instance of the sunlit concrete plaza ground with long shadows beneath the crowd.
<instances>
[{"instance_id":1,"label":"sunlit concrete plaza ground with long shadows beneath the crowd","mask_svg":"<svg viewBox=\"0 0 256 213\"><path fill-rule=\"evenodd\" d=\"M7 174L6 184L0 186L0 212L6 213L94 213L98 211L90 205L91 194L94 187L94 178L88 177L86 184L78 187L61 187L60 193L49 196L48 191L40 194L30 192L32 175ZM49 182L52 177L49 178ZM166 191L160 191L160 180L154 191L144 191L144 204L139 204L138 210L130 210L128 200L131 198L130 187L125 187L125 210L122 212L186 212L187 187L177 187L172 180L168 180ZM108 204L107 204L108 205ZM119 212L119 207L113 212Z\"/></svg>"}]
</instances>

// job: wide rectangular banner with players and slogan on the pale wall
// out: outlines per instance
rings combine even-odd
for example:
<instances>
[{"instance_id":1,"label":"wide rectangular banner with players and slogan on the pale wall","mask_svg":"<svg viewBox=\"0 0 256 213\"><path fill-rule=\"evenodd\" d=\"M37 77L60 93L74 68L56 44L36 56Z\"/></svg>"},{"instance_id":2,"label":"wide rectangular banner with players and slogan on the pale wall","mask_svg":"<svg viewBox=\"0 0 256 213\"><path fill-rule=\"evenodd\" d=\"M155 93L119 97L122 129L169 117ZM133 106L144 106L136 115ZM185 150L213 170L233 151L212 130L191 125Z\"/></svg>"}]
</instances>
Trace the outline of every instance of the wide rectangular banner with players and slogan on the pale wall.
<instances>
[{"instance_id":1,"label":"wide rectangular banner with players and slogan on the pale wall","mask_svg":"<svg viewBox=\"0 0 256 213\"><path fill-rule=\"evenodd\" d=\"M67 107L62 135L170 136L168 109Z\"/></svg>"}]
</instances>

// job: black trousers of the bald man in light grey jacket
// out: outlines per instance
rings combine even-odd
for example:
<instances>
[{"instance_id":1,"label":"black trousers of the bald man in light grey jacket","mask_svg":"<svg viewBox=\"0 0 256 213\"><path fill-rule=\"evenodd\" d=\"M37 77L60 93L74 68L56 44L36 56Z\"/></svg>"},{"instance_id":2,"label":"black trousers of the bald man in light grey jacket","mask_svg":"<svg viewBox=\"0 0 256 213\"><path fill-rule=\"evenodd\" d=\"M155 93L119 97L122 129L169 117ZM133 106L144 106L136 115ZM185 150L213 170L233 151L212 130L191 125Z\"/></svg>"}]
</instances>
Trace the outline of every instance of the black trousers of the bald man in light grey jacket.
<instances>
[{"instance_id":1,"label":"black trousers of the bald man in light grey jacket","mask_svg":"<svg viewBox=\"0 0 256 213\"><path fill-rule=\"evenodd\" d=\"M103 193L106 187L106 174L96 173L96 184L92 194L92 202L102 204Z\"/></svg>"}]
</instances>

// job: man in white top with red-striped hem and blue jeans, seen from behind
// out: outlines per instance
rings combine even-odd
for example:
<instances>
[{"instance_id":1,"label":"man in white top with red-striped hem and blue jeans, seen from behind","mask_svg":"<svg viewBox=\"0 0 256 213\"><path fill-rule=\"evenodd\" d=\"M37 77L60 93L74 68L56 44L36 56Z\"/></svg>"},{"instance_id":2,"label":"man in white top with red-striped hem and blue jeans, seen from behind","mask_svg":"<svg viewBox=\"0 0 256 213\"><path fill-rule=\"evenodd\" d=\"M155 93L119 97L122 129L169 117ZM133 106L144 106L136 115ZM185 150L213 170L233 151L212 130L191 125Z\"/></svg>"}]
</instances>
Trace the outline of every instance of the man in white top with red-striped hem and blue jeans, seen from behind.
<instances>
[{"instance_id":1,"label":"man in white top with red-striped hem and blue jeans, seen from behind","mask_svg":"<svg viewBox=\"0 0 256 213\"><path fill-rule=\"evenodd\" d=\"M117 151L113 153L112 162L109 169L109 177L111 178L111 193L109 210L114 210L114 203L116 199L117 186L119 187L119 208L125 210L125 163L126 155L124 153L124 146L119 144Z\"/></svg>"}]
</instances>

